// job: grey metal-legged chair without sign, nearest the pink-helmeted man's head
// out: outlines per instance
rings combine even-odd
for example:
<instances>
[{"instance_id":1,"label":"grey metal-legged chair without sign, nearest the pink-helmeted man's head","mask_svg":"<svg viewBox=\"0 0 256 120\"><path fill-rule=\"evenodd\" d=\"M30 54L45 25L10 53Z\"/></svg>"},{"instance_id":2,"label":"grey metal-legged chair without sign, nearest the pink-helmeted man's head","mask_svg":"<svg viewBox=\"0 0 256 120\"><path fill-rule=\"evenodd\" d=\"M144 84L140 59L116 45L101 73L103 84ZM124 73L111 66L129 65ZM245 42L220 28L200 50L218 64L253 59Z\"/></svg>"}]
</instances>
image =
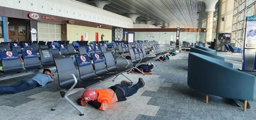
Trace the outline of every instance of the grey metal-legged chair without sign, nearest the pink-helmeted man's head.
<instances>
[{"instance_id":1,"label":"grey metal-legged chair without sign, nearest the pink-helmeted man's head","mask_svg":"<svg viewBox=\"0 0 256 120\"><path fill-rule=\"evenodd\" d=\"M61 100L66 100L69 104L71 104L79 113L80 116L84 116L84 113L73 103L68 96L76 93L80 90L90 88L98 83L99 80L92 81L80 81L77 78L77 71L75 65L73 64L73 60L70 56L66 57L55 57L54 62L56 64L60 87L63 89L67 89L65 91L60 91L61 97L56 101L56 103L52 107L52 111L55 110L55 107L60 103ZM70 64L72 63L72 64Z\"/></svg>"}]
</instances>

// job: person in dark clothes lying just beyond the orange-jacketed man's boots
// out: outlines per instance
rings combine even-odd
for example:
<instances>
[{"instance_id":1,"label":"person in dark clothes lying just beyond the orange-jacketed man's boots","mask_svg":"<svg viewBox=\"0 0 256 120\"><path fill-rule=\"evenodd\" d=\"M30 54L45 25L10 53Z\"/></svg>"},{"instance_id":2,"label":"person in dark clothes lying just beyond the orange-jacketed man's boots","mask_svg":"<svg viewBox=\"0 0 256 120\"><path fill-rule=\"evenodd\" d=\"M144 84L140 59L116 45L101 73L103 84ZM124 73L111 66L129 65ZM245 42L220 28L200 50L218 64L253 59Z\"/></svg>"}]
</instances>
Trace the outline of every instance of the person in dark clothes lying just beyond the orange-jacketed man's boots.
<instances>
[{"instance_id":1,"label":"person in dark clothes lying just beyond the orange-jacketed man's boots","mask_svg":"<svg viewBox=\"0 0 256 120\"><path fill-rule=\"evenodd\" d=\"M154 64L153 64L153 63L141 64L141 65L137 66L137 68L138 68L140 71L142 71L144 74L152 75L153 72L151 71L151 69L154 68ZM130 73L141 74L139 70L137 70L137 69L132 69L132 70L130 71Z\"/></svg>"}]
</instances>

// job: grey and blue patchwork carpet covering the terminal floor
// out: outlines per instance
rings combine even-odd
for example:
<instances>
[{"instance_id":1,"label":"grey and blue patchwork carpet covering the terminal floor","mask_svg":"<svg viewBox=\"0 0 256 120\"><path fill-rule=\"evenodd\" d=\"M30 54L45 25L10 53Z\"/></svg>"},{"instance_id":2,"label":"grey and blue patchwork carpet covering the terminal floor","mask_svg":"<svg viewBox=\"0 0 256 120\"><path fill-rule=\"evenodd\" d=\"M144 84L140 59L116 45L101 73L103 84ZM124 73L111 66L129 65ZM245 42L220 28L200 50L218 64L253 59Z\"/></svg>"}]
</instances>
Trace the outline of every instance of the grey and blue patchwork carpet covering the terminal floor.
<instances>
[{"instance_id":1,"label":"grey and blue patchwork carpet covering the terminal floor","mask_svg":"<svg viewBox=\"0 0 256 120\"><path fill-rule=\"evenodd\" d=\"M238 54L229 56L225 52L218 52L218 55L234 63L234 69L242 65L242 57ZM124 66L122 63L124 64L123 61L118 62L117 66ZM58 81L55 81L43 88L0 95L0 119L256 119L255 101L249 101L251 109L243 111L243 108L234 105L230 99L212 95L209 96L207 104L204 93L190 90L187 85L188 52L182 51L167 62L155 63L158 66L152 70L153 75L125 74L134 83L142 77L146 82L145 87L127 97L127 101L110 105L106 111L97 110L90 105L79 106L84 111L84 116L79 116L66 101L60 102L56 110L51 111L51 107L60 97L59 91L62 90ZM254 72L249 73L256 75ZM0 81L0 85L8 85L32 76ZM108 88L122 80L125 77L118 76L116 81L112 82L110 79L93 86L92 89ZM69 98L76 102L82 92L83 90L74 93Z\"/></svg>"}]
</instances>

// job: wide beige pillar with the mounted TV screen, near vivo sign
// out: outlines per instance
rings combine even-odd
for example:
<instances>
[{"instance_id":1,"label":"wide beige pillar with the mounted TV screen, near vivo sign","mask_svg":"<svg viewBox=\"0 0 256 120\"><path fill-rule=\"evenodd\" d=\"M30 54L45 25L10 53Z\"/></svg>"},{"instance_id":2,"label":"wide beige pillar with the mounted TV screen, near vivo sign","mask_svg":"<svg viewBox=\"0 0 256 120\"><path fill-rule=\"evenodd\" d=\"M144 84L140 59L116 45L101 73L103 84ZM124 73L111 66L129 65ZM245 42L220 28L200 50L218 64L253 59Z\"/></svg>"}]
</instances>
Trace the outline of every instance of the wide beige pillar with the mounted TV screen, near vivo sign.
<instances>
[{"instance_id":1,"label":"wide beige pillar with the mounted TV screen, near vivo sign","mask_svg":"<svg viewBox=\"0 0 256 120\"><path fill-rule=\"evenodd\" d=\"M219 0L217 31L216 31L216 51L226 51L224 44L230 44L231 40L219 40L218 33L231 33L234 12L234 0ZM227 7L229 6L229 7ZM231 36L232 37L232 34Z\"/></svg>"}]
</instances>

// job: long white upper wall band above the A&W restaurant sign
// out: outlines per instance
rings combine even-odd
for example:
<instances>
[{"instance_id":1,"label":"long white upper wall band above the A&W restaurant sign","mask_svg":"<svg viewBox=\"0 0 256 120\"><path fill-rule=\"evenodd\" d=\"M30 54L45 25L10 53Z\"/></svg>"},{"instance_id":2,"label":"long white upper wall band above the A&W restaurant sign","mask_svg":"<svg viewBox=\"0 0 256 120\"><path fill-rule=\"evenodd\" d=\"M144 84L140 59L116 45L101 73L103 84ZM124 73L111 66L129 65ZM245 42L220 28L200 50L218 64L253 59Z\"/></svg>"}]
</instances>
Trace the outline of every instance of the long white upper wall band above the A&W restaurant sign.
<instances>
[{"instance_id":1,"label":"long white upper wall band above the A&W restaurant sign","mask_svg":"<svg viewBox=\"0 0 256 120\"><path fill-rule=\"evenodd\" d=\"M0 0L0 6L133 28L133 20L128 17L73 0Z\"/></svg>"}]
</instances>

